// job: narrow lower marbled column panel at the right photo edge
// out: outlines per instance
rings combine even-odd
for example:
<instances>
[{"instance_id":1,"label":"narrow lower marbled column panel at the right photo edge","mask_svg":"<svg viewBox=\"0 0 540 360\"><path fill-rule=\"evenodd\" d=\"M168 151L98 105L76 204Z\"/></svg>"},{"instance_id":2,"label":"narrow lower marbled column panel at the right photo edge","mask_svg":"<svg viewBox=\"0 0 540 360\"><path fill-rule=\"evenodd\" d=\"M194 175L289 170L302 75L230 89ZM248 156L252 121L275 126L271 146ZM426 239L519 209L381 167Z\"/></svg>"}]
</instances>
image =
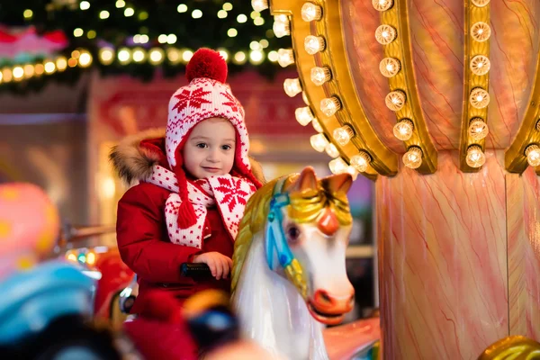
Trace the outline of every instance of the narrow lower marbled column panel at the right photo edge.
<instances>
[{"instance_id":1,"label":"narrow lower marbled column panel at the right photo edge","mask_svg":"<svg viewBox=\"0 0 540 360\"><path fill-rule=\"evenodd\" d=\"M510 335L540 340L540 177L507 175Z\"/></svg>"}]
</instances>

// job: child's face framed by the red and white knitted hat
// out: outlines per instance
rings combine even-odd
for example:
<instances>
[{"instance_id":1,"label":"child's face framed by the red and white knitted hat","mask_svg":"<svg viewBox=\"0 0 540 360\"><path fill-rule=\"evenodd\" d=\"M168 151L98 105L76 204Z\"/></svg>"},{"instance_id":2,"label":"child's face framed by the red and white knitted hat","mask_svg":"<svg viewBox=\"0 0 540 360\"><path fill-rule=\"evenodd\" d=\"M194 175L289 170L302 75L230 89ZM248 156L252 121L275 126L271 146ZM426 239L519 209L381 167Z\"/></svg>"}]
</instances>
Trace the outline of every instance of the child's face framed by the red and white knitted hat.
<instances>
[{"instance_id":1,"label":"child's face framed by the red and white knitted hat","mask_svg":"<svg viewBox=\"0 0 540 360\"><path fill-rule=\"evenodd\" d=\"M230 121L221 118L201 121L182 150L185 169L198 179L229 174L235 148L236 131Z\"/></svg>"}]
</instances>

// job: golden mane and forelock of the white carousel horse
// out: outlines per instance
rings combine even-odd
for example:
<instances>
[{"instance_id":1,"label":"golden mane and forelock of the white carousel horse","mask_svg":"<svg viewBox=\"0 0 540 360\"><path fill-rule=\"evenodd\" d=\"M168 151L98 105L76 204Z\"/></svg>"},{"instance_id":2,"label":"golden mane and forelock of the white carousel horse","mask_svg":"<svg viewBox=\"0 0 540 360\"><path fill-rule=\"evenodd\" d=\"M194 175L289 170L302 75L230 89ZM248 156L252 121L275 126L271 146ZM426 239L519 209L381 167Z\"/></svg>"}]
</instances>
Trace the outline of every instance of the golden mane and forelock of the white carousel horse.
<instances>
[{"instance_id":1,"label":"golden mane and forelock of the white carousel horse","mask_svg":"<svg viewBox=\"0 0 540 360\"><path fill-rule=\"evenodd\" d=\"M284 181L284 192L288 192L298 178L298 174L288 175ZM244 217L240 221L232 259L232 293L238 284L240 271L253 237L265 227L270 200L278 180L275 179L265 184L247 202ZM352 222L352 216L349 211L347 194L335 191L339 188L339 184L335 184L336 181L339 181L336 177L328 177L318 180L316 188L307 186L306 189L306 184L296 186L299 190L290 193L289 218L303 223L319 219L318 228L325 234L338 229L338 225L349 225Z\"/></svg>"}]
</instances>

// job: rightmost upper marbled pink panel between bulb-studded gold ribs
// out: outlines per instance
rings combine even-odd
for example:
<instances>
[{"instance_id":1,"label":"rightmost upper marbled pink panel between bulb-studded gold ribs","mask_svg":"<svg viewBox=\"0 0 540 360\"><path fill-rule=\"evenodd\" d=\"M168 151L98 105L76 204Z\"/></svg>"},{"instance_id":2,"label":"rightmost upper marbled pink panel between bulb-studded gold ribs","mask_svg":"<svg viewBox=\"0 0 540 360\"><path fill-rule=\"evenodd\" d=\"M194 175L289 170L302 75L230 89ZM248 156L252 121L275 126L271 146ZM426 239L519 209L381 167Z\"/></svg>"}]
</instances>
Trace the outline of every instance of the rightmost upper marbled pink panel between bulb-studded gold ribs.
<instances>
[{"instance_id":1,"label":"rightmost upper marbled pink panel between bulb-studded gold ribs","mask_svg":"<svg viewBox=\"0 0 540 360\"><path fill-rule=\"evenodd\" d=\"M488 148L508 148L518 132L535 82L540 2L491 2Z\"/></svg>"}]
</instances>

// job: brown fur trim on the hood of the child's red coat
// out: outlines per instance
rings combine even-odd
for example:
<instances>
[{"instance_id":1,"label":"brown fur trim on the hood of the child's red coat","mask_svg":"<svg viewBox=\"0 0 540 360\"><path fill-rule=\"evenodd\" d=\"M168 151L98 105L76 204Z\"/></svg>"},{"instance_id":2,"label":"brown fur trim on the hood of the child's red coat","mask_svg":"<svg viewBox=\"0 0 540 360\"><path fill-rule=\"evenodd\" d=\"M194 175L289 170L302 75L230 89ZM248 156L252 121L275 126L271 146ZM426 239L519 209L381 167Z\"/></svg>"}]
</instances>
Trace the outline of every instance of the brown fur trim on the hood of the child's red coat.
<instances>
[{"instance_id":1,"label":"brown fur trim on the hood of the child's red coat","mask_svg":"<svg viewBox=\"0 0 540 360\"><path fill-rule=\"evenodd\" d=\"M144 139L158 139L165 137L165 128L149 129L131 135L112 147L109 159L112 166L126 183L145 179L152 173L152 166L159 163L160 156L156 152L140 146ZM266 184L263 168L252 157L249 157L251 172L261 184Z\"/></svg>"}]
</instances>

